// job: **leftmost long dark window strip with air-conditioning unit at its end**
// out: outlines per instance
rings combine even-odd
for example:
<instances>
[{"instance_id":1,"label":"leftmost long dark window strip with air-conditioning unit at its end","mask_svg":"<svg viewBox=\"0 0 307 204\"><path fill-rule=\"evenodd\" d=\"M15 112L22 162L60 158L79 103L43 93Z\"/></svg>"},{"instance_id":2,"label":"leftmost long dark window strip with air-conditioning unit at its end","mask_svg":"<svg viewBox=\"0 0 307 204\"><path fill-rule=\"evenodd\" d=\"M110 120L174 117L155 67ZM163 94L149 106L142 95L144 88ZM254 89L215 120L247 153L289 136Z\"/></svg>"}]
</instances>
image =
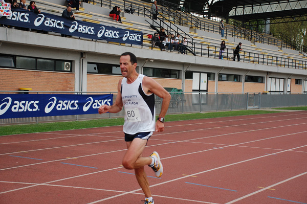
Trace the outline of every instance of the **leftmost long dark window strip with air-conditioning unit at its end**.
<instances>
[{"instance_id":1,"label":"leftmost long dark window strip with air-conditioning unit at its end","mask_svg":"<svg viewBox=\"0 0 307 204\"><path fill-rule=\"evenodd\" d=\"M0 67L11 67L25 70L71 72L70 64L70 60L44 59L0 54Z\"/></svg>"}]
</instances>

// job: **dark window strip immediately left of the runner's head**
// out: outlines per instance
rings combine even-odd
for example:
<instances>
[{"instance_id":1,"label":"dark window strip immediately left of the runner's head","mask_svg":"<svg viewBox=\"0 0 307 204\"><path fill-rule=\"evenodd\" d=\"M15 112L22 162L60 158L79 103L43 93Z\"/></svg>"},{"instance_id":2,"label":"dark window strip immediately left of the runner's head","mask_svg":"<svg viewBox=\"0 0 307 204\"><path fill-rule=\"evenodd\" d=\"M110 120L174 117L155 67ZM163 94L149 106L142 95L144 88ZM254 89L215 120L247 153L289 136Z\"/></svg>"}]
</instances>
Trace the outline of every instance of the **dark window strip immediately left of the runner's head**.
<instances>
[{"instance_id":1,"label":"dark window strip immediately left of the runner's head","mask_svg":"<svg viewBox=\"0 0 307 204\"><path fill-rule=\"evenodd\" d=\"M87 63L87 73L121 75L119 64Z\"/></svg>"}]
</instances>

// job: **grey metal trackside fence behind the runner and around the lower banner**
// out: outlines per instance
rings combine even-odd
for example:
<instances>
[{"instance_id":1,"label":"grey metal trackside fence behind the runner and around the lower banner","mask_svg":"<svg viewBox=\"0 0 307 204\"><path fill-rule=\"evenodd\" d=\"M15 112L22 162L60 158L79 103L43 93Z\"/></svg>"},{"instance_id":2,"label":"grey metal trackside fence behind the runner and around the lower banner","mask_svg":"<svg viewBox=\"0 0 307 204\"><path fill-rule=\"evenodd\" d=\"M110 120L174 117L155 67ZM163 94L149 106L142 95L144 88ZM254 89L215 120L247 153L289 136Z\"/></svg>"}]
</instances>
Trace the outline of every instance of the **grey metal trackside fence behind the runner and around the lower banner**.
<instances>
[{"instance_id":1,"label":"grey metal trackside fence behind the runner and around the lower banner","mask_svg":"<svg viewBox=\"0 0 307 204\"><path fill-rule=\"evenodd\" d=\"M0 91L0 93L22 93L18 91ZM115 92L34 92L39 93L63 93L63 94L114 94ZM170 92L171 100L167 114L185 114L192 112L209 112L209 111L229 111L244 109L260 108L277 108L290 106L307 106L307 93L206 93L206 92ZM161 110L162 99L156 96L156 112ZM98 112L98 110L97 110ZM72 116L50 116L34 118L14 118L0 119L0 125L23 124L23 123L41 123L55 121L78 121L118 118L124 116L124 110L117 114L90 114L90 115L72 115Z\"/></svg>"}]
</instances>

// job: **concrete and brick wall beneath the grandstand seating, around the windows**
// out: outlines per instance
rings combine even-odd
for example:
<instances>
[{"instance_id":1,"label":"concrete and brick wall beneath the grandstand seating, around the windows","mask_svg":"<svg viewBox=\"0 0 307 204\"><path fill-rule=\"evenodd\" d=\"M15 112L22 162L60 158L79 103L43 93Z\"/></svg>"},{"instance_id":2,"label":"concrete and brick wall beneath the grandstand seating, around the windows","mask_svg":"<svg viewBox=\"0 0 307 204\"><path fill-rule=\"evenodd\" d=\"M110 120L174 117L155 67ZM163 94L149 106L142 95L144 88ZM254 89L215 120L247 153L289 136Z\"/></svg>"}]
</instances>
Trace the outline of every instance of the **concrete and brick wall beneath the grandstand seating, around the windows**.
<instances>
[{"instance_id":1,"label":"concrete and brick wall beneath the grandstand seating, around the windows","mask_svg":"<svg viewBox=\"0 0 307 204\"><path fill-rule=\"evenodd\" d=\"M286 67L253 64L218 60L208 57L181 55L150 50L138 46L118 46L105 41L92 41L89 39L64 38L59 34L48 35L36 32L21 31L0 27L0 54L40 57L47 59L61 59L72 61L71 73L50 71L25 71L20 69L0 69L0 90L17 90L19 87L28 86L32 90L74 90L76 92L113 92L116 91L120 76L87 74L88 62L119 64L120 54L132 52L138 58L138 72L142 73L143 67L158 69L179 70L179 79L155 78L164 87L176 87L191 92L192 80L182 80L185 71L214 73L215 80L218 74L237 74L242 76L252 75L277 77L285 79L306 78L306 70L290 69ZM151 60L149 60L151 59ZM27 78L24 78L25 73ZM38 74L39 73L39 74ZM25 80L21 80L27 79ZM264 83L249 84L240 82L208 81L208 92L264 92ZM286 88L285 88L286 90ZM291 85L292 93L301 93L301 85Z\"/></svg>"}]
</instances>

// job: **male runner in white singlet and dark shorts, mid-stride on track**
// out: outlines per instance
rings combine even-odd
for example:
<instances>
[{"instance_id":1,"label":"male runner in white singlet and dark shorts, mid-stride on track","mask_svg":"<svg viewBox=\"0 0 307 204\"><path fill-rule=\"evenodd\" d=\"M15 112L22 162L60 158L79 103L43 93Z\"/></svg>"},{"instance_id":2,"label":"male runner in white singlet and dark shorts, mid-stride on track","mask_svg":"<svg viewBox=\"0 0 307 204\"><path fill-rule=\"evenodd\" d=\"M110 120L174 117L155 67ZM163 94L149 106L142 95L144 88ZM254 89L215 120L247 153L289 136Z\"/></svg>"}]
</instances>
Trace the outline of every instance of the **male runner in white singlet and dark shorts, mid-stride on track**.
<instances>
[{"instance_id":1,"label":"male runner in white singlet and dark shorts, mid-stride on track","mask_svg":"<svg viewBox=\"0 0 307 204\"><path fill-rule=\"evenodd\" d=\"M134 169L140 187L145 194L144 204L154 204L144 166L149 165L157 177L161 177L163 166L158 152L143 157L147 140L153 131L164 130L164 116L169 106L170 94L155 80L138 74L137 58L133 53L123 53L119 60L120 70L124 78L118 82L118 93L111 106L99 107L99 114L119 112L124 106L125 122L123 131L127 152L122 164L126 169ZM155 94L163 99L159 118L156 123Z\"/></svg>"}]
</instances>

